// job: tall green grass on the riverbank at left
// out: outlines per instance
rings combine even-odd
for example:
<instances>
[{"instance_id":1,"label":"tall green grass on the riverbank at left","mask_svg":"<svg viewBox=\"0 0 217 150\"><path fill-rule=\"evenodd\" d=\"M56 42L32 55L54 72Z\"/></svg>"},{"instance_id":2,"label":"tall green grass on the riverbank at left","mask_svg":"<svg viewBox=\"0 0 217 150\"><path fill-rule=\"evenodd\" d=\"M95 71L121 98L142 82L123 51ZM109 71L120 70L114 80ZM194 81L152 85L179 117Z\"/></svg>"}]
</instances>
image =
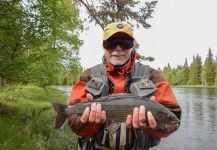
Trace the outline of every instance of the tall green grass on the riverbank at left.
<instances>
[{"instance_id":1,"label":"tall green grass on the riverbank at left","mask_svg":"<svg viewBox=\"0 0 217 150\"><path fill-rule=\"evenodd\" d=\"M62 131L54 129L52 101L67 103L67 97L36 86L0 88L0 149L76 149L67 123Z\"/></svg>"}]
</instances>

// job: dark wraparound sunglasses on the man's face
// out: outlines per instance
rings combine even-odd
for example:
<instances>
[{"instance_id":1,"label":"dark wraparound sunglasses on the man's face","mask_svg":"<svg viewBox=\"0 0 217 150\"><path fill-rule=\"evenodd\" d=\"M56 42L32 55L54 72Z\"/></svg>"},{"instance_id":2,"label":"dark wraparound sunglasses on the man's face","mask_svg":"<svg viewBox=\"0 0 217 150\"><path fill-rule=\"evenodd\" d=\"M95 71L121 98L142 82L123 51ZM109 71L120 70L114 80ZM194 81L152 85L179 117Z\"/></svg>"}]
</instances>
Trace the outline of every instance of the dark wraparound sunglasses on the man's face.
<instances>
[{"instance_id":1,"label":"dark wraparound sunglasses on the man's face","mask_svg":"<svg viewBox=\"0 0 217 150\"><path fill-rule=\"evenodd\" d=\"M127 50L133 47L133 39L130 38L112 38L103 41L103 47L106 50L113 50L119 45L121 49Z\"/></svg>"}]
</instances>

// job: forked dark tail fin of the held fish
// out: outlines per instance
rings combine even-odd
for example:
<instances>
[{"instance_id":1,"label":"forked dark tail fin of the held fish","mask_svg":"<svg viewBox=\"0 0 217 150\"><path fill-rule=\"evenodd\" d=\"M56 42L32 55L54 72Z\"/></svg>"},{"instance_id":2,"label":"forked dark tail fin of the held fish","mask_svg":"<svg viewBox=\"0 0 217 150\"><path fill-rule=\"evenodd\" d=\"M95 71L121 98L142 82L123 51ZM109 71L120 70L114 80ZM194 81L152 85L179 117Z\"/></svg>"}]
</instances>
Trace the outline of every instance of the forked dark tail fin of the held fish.
<instances>
[{"instance_id":1,"label":"forked dark tail fin of the held fish","mask_svg":"<svg viewBox=\"0 0 217 150\"><path fill-rule=\"evenodd\" d=\"M59 129L68 117L68 115L64 112L64 110L67 108L67 105L63 105L60 103L54 103L54 102L52 104L53 104L54 110L57 112L55 129Z\"/></svg>"}]
</instances>

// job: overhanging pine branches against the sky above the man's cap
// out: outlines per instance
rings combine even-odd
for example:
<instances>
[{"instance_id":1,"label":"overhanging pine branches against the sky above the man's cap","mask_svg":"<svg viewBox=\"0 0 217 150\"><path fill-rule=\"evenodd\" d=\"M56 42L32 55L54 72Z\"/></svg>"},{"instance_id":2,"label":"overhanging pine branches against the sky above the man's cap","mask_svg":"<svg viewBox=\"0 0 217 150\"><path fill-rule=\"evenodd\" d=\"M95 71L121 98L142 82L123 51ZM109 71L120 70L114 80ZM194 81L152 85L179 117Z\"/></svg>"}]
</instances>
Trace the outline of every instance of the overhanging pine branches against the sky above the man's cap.
<instances>
[{"instance_id":1,"label":"overhanging pine branches against the sky above the man's cap","mask_svg":"<svg viewBox=\"0 0 217 150\"><path fill-rule=\"evenodd\" d=\"M74 0L84 6L90 22L95 22L103 29L111 22L129 22L137 27L150 28L147 22L152 18L157 0ZM135 9L136 8L136 9Z\"/></svg>"}]
</instances>

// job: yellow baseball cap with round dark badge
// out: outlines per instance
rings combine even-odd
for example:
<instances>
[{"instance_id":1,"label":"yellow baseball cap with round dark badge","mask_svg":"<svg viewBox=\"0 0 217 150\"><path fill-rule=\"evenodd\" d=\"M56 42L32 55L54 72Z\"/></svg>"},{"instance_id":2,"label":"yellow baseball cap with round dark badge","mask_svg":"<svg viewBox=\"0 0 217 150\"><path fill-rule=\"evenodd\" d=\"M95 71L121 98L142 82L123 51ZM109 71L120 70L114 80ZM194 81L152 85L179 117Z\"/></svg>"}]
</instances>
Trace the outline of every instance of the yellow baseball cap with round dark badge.
<instances>
[{"instance_id":1,"label":"yellow baseball cap with round dark badge","mask_svg":"<svg viewBox=\"0 0 217 150\"><path fill-rule=\"evenodd\" d=\"M126 22L114 22L114 23L108 24L104 28L103 41L107 40L112 35L114 35L114 34L116 34L118 32L125 33L125 34L129 35L131 38L134 39L134 37L133 37L133 28L131 27L131 25L129 25Z\"/></svg>"}]
</instances>

